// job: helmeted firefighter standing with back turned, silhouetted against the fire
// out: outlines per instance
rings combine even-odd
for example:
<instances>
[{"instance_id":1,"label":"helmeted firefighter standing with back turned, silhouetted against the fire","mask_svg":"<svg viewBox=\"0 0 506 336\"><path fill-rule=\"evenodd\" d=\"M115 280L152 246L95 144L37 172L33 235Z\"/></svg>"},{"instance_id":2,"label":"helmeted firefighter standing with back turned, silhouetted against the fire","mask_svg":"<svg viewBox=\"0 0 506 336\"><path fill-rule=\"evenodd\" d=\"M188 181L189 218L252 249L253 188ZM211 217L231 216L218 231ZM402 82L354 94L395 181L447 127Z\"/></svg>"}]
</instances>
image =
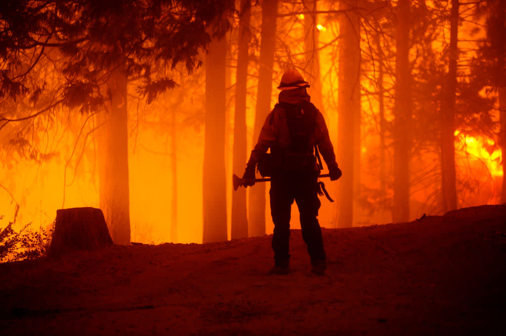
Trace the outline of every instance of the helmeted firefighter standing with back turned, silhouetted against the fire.
<instances>
[{"instance_id":1,"label":"helmeted firefighter standing with back turned, silhouetted against the fire","mask_svg":"<svg viewBox=\"0 0 506 336\"><path fill-rule=\"evenodd\" d=\"M293 201L299 207L302 236L311 257L312 272L323 275L327 267L317 219L321 205L317 176L322 168L316 159L318 150L328 167L330 180L340 178L342 172L335 161L323 115L310 102L308 87L309 83L297 70L289 69L283 74L278 86L281 90L278 104L265 120L243 175L245 186L254 185L251 179L255 178L258 164L263 176L271 176L269 195L274 222L274 267L269 273L273 274L290 271L289 236Z\"/></svg>"}]
</instances>

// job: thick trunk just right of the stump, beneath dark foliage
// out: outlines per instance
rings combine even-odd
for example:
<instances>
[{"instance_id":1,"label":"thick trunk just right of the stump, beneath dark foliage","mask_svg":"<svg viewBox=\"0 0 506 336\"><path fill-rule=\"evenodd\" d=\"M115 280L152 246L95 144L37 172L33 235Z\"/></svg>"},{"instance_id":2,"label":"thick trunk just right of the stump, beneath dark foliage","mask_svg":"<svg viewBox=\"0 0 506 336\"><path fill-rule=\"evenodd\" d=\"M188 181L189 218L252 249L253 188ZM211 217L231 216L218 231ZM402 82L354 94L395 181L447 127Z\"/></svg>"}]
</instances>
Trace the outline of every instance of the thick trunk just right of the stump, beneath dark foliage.
<instances>
[{"instance_id":1,"label":"thick trunk just right of the stump, beneath dark foliage","mask_svg":"<svg viewBox=\"0 0 506 336\"><path fill-rule=\"evenodd\" d=\"M126 78L118 70L107 81L110 105L101 116L99 136L99 204L114 244L130 245L128 110Z\"/></svg>"}]
</instances>

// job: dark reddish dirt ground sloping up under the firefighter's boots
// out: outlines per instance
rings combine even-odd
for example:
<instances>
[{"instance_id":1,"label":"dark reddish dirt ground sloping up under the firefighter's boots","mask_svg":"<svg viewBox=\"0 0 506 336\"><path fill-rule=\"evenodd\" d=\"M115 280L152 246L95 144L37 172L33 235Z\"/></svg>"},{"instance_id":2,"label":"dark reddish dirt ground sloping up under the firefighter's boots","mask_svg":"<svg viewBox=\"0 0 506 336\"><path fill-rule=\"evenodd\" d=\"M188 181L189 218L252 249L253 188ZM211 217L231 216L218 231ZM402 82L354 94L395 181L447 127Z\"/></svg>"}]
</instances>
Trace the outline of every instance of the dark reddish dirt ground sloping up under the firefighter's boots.
<instances>
[{"instance_id":1,"label":"dark reddish dirt ground sloping up under the firefighter's boots","mask_svg":"<svg viewBox=\"0 0 506 336\"><path fill-rule=\"evenodd\" d=\"M506 205L323 229L325 276L300 230L288 275L271 236L114 246L0 265L3 335L486 335L504 332ZM496 332L494 332L496 331Z\"/></svg>"}]
</instances>

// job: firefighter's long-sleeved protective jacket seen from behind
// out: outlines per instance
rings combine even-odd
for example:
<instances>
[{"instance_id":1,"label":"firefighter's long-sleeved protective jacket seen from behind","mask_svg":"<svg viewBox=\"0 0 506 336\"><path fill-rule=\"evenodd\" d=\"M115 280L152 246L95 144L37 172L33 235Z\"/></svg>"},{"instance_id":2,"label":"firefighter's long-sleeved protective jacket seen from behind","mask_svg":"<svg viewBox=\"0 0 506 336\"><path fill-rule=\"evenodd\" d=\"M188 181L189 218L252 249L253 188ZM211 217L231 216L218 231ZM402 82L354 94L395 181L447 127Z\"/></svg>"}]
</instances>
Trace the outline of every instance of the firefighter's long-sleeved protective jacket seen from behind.
<instances>
[{"instance_id":1,"label":"firefighter's long-sleeved protective jacket seen from behind","mask_svg":"<svg viewBox=\"0 0 506 336\"><path fill-rule=\"evenodd\" d=\"M327 166L335 164L335 154L328 134L327 125L321 112L310 102L310 96L304 91L284 90L279 93L278 104L267 116L260 131L257 145L251 151L248 161L255 165L262 155L271 148L271 153L313 154L318 145ZM296 111L296 112L294 112ZM289 115L296 113L297 116ZM293 123L308 123L307 134L293 134ZM292 123L292 125L289 125ZM291 131L291 134L290 134Z\"/></svg>"}]
</instances>

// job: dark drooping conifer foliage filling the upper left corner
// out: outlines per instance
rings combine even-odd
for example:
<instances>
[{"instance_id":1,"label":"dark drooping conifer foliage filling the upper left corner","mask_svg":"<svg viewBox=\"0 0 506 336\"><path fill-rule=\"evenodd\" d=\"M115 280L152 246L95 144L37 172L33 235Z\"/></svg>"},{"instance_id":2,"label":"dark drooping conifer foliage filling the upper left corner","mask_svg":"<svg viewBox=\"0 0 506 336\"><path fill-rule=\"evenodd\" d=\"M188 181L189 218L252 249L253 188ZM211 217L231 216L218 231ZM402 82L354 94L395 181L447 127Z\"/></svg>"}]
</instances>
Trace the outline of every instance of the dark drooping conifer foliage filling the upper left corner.
<instances>
[{"instance_id":1,"label":"dark drooping conifer foliage filling the upper left corner","mask_svg":"<svg viewBox=\"0 0 506 336\"><path fill-rule=\"evenodd\" d=\"M100 108L100 91L112 70L142 79L138 92L151 102L175 82L163 69L182 64L191 73L210 39L230 28L231 0L216 1L17 1L0 13L0 98L16 99L41 88L30 86L38 62L57 63L65 80L63 103ZM56 51L55 51L56 50ZM58 53L50 57L49 51Z\"/></svg>"}]
</instances>

